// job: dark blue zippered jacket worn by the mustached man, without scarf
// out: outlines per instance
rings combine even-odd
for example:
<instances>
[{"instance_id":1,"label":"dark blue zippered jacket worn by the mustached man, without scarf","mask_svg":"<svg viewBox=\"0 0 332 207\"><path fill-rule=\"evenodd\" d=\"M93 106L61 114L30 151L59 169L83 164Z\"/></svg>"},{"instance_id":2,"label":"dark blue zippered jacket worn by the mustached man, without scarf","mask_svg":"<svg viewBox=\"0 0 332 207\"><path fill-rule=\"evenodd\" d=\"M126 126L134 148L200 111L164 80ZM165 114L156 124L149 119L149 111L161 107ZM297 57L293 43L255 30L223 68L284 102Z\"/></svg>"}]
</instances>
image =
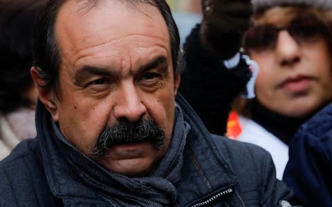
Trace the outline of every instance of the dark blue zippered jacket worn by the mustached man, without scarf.
<instances>
[{"instance_id":1,"label":"dark blue zippered jacket worn by the mustached man, without scarf","mask_svg":"<svg viewBox=\"0 0 332 207\"><path fill-rule=\"evenodd\" d=\"M183 151L181 179L174 183L174 206L270 207L291 197L286 185L275 179L273 161L266 150L210 135L180 95L176 101L191 129ZM37 136L41 127L49 124L44 122L51 122L40 123L41 111L46 112L42 104L37 107ZM64 149L45 153L43 148L48 146L40 138L23 141L0 162L0 206L117 206L84 182L89 175L72 175L65 164L68 160L59 162Z\"/></svg>"}]
</instances>

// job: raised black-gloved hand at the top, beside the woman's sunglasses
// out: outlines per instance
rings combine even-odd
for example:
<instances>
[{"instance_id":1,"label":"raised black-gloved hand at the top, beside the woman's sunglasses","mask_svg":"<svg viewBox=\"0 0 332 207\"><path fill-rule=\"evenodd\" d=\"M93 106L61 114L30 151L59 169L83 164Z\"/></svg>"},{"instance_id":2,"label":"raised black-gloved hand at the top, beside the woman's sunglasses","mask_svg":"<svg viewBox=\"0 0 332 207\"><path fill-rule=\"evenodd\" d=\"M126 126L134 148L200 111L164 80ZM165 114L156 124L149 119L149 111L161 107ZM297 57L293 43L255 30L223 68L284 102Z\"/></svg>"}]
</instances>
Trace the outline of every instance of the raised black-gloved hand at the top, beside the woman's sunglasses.
<instances>
[{"instance_id":1,"label":"raised black-gloved hand at the top, beside the woman's sunglasses","mask_svg":"<svg viewBox=\"0 0 332 207\"><path fill-rule=\"evenodd\" d=\"M221 59L233 57L243 41L243 34L252 25L253 6L250 0L201 0L203 46Z\"/></svg>"}]
</instances>

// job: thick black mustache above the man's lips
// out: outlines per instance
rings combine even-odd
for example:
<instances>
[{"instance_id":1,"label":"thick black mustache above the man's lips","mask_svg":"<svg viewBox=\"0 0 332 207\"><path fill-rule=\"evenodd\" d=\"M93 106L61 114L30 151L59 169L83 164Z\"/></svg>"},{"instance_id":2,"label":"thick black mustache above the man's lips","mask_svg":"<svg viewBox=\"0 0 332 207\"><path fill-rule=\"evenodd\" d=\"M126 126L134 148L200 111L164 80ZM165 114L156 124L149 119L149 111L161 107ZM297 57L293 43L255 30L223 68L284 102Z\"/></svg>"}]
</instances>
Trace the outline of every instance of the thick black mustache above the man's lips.
<instances>
[{"instance_id":1,"label":"thick black mustache above the man's lips","mask_svg":"<svg viewBox=\"0 0 332 207\"><path fill-rule=\"evenodd\" d=\"M118 124L103 130L92 153L97 157L105 157L112 146L142 141L151 141L155 148L161 149L164 147L164 139L164 130L152 119L140 119L135 122L120 119Z\"/></svg>"}]
</instances>

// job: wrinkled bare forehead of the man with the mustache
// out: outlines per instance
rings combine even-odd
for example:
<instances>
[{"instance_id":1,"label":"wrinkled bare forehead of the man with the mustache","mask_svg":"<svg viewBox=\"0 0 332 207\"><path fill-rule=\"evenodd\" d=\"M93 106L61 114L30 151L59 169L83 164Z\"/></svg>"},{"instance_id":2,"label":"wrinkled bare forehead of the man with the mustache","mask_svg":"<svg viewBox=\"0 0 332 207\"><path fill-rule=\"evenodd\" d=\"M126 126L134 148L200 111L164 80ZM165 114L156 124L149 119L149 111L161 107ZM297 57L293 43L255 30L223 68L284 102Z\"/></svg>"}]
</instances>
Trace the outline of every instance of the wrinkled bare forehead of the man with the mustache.
<instances>
[{"instance_id":1,"label":"wrinkled bare forehead of the man with the mustache","mask_svg":"<svg viewBox=\"0 0 332 207\"><path fill-rule=\"evenodd\" d=\"M167 25L156 6L140 4L137 10L119 1L100 1L85 13L79 7L77 0L69 0L55 23L62 61L71 68L86 61L108 65L121 60L129 66L149 52L170 57Z\"/></svg>"}]
</instances>

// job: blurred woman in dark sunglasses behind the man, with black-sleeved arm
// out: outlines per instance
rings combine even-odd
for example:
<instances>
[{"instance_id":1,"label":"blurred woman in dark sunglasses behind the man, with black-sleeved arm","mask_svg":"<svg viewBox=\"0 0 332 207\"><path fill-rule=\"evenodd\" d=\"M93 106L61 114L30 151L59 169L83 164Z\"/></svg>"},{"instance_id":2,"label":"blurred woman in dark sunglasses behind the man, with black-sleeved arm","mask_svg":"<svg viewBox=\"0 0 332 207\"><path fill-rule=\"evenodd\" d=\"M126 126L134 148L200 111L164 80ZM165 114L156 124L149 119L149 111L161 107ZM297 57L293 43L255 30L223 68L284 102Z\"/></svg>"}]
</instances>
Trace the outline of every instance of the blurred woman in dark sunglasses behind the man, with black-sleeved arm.
<instances>
[{"instance_id":1,"label":"blurred woman in dark sunglasses behind the man, with black-sleeved arm","mask_svg":"<svg viewBox=\"0 0 332 207\"><path fill-rule=\"evenodd\" d=\"M237 42L234 41L236 36L227 29L234 26L241 31L237 21L230 22L217 15L222 14L218 11L227 8L228 1L202 2L208 5L205 6L208 12L203 10L203 14L215 14L215 25L220 25L220 30L211 32L214 34L211 39L224 40L220 44L218 41L210 44L215 52L212 57L229 57L215 49L231 55L232 50L225 48L237 48L231 45ZM236 3L239 4L234 1ZM259 74L255 82L255 98L248 100L239 96L234 100L237 113L232 124L237 125L236 132L230 132L230 121L225 124L225 115L230 112L227 103L234 99L228 94L235 94L231 90L238 82L232 83L231 77L222 79L225 71L216 67L225 58L200 59L192 55L196 63L187 62L197 70L187 67L190 68L187 70L190 81L186 84L183 75L181 87L186 90L181 91L180 87L180 91L211 132L223 135L228 125L226 135L229 137L266 148L275 162L277 177L282 179L288 161L288 144L295 132L332 100L331 1L253 0L252 3L254 25L244 35L243 48L258 64ZM234 14L241 11L240 8L234 7ZM187 56L190 51L194 49L187 50ZM197 51L196 55L201 55L201 50ZM237 74L241 77L241 72Z\"/></svg>"}]
</instances>

